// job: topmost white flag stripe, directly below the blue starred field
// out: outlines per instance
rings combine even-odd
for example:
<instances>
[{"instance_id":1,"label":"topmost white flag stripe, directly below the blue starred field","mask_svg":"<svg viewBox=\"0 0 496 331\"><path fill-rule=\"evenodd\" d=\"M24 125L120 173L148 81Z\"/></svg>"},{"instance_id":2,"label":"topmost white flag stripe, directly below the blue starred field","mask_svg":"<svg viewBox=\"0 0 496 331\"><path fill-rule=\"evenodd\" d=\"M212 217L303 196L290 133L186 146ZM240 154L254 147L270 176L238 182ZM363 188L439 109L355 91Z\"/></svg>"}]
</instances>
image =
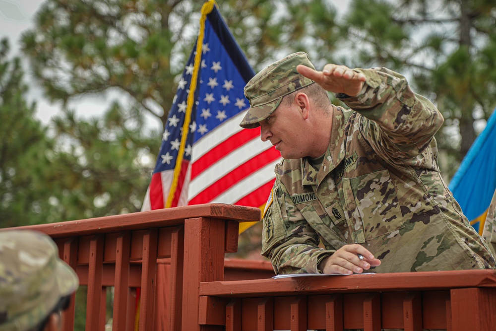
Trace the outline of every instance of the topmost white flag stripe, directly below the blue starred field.
<instances>
[{"instance_id":1,"label":"topmost white flag stripe, directly below the blue starred field","mask_svg":"<svg viewBox=\"0 0 496 331\"><path fill-rule=\"evenodd\" d=\"M220 144L222 141L227 140L226 137L230 137L235 133L243 130L240 127L240 123L246 115L246 111L239 113L236 116L233 116L224 124L218 126L205 136L201 137L198 141L196 141L193 145L193 150L191 152L191 162L195 162L200 157L205 155L210 149Z\"/></svg>"}]
</instances>

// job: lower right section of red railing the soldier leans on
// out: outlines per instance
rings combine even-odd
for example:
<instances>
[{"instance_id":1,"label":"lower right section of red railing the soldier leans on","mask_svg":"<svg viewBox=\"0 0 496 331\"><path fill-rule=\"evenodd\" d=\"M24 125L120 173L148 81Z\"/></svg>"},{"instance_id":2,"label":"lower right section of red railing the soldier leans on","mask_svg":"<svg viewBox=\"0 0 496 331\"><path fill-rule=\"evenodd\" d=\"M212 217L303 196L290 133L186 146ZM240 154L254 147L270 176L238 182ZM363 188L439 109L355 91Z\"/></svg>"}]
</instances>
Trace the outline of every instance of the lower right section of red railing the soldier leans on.
<instances>
[{"instance_id":1,"label":"lower right section of red railing the soldier leans on","mask_svg":"<svg viewBox=\"0 0 496 331\"><path fill-rule=\"evenodd\" d=\"M206 330L496 330L495 270L200 284ZM210 326L221 326L212 329Z\"/></svg>"}]
</instances>

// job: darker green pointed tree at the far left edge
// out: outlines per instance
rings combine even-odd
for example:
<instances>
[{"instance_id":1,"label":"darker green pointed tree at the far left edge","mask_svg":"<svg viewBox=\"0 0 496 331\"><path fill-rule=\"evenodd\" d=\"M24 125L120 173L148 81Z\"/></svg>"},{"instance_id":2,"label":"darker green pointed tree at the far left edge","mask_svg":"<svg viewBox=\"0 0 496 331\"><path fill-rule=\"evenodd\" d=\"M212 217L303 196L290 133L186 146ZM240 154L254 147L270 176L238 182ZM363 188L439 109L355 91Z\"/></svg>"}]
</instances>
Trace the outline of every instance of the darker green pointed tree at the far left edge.
<instances>
[{"instance_id":1,"label":"darker green pointed tree at the far left edge","mask_svg":"<svg viewBox=\"0 0 496 331\"><path fill-rule=\"evenodd\" d=\"M9 45L0 42L0 224L46 222L53 208L47 151L53 140L34 119L35 105L25 100L27 87L18 58L9 61Z\"/></svg>"}]
</instances>

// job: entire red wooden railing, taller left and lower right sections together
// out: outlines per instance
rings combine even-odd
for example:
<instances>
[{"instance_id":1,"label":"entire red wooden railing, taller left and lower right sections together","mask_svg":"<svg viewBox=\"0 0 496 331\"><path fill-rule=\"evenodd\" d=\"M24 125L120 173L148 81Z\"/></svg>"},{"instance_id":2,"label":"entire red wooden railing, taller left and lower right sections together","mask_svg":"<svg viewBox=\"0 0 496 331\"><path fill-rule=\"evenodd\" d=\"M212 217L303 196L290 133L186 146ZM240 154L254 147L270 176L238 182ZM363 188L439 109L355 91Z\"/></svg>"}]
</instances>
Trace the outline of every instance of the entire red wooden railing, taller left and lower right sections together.
<instances>
[{"instance_id":1,"label":"entire red wooden railing, taller left and lower right sections together","mask_svg":"<svg viewBox=\"0 0 496 331\"><path fill-rule=\"evenodd\" d=\"M49 234L88 286L86 330L496 330L494 270L266 279L268 262L229 260L257 208L195 205L24 228ZM74 300L64 331L73 330Z\"/></svg>"}]
</instances>

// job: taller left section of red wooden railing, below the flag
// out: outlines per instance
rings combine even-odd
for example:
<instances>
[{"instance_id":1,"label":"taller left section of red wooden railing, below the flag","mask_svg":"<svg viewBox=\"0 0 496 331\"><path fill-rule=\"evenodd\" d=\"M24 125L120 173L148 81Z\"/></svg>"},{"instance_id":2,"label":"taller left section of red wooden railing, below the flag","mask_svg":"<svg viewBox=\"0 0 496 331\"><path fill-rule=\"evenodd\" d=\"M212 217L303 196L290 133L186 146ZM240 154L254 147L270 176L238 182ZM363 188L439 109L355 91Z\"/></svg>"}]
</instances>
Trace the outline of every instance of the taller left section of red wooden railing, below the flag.
<instances>
[{"instance_id":1,"label":"taller left section of red wooden railing, below the flag","mask_svg":"<svg viewBox=\"0 0 496 331\"><path fill-rule=\"evenodd\" d=\"M136 287L139 331L189 330L190 320L198 325L191 316L198 316L200 282L274 274L266 262L248 262L249 271L237 261L225 266L224 254L238 249L239 222L258 220L258 208L205 204L21 228L50 235L88 286L86 331L104 330L108 286L115 287L113 330L134 330ZM64 331L74 329L74 302Z\"/></svg>"}]
</instances>

